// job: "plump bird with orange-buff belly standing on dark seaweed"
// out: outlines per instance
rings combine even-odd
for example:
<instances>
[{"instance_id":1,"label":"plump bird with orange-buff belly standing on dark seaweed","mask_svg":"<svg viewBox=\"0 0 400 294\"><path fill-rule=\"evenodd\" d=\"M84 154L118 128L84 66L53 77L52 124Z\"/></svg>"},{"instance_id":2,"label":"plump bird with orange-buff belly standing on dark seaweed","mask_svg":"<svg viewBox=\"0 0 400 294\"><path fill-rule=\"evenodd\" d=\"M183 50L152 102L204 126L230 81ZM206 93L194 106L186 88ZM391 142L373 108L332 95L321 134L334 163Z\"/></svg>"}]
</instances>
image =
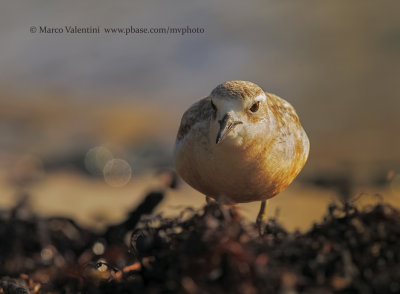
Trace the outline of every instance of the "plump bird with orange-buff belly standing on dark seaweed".
<instances>
[{"instance_id":1,"label":"plump bird with orange-buff belly standing on dark seaweed","mask_svg":"<svg viewBox=\"0 0 400 294\"><path fill-rule=\"evenodd\" d=\"M183 114L174 146L177 173L208 201L267 200L304 167L310 142L294 107L249 81L227 81Z\"/></svg>"}]
</instances>

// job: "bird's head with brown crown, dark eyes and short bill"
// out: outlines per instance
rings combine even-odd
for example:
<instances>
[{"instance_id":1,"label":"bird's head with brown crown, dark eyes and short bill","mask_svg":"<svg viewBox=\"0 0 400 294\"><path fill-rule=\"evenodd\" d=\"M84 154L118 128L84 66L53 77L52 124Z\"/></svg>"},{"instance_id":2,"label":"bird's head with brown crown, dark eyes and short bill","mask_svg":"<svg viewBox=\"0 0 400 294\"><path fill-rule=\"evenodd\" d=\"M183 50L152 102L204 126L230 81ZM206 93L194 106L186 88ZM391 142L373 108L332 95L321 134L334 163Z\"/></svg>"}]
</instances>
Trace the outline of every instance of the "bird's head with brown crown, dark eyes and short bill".
<instances>
[{"instance_id":1,"label":"bird's head with brown crown, dark eyes and short bill","mask_svg":"<svg viewBox=\"0 0 400 294\"><path fill-rule=\"evenodd\" d=\"M260 123L267 118L267 97L254 83L229 81L218 85L210 94L214 115L212 140L241 145L244 138L260 133Z\"/></svg>"}]
</instances>

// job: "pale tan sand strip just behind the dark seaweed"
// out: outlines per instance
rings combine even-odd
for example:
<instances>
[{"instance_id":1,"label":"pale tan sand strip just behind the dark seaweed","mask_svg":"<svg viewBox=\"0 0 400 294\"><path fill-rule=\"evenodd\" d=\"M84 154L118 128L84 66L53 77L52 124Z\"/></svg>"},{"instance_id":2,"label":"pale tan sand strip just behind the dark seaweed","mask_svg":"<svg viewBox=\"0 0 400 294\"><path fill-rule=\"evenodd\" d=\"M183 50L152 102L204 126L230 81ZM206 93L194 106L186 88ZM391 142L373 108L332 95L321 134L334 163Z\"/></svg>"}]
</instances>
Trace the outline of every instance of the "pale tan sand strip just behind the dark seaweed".
<instances>
[{"instance_id":1,"label":"pale tan sand strip just behind the dark seaweed","mask_svg":"<svg viewBox=\"0 0 400 294\"><path fill-rule=\"evenodd\" d=\"M46 176L29 189L33 210L44 216L61 215L72 217L79 223L101 228L106 223L122 220L150 190L157 189L159 180L153 175L133 178L121 188L108 186L101 180L93 180L73 173L54 173ZM358 206L384 200L400 207L398 187L381 190L358 188L365 193ZM15 201L16 190L0 182L0 207L10 207ZM307 230L313 222L320 220L331 202L337 202L335 192L314 186L293 183L287 190L269 201L268 215L277 216L289 230ZM169 190L155 213L176 216L186 207L200 208L205 204L204 196L186 184L178 190ZM254 221L259 203L238 204L238 210L248 220Z\"/></svg>"}]
</instances>

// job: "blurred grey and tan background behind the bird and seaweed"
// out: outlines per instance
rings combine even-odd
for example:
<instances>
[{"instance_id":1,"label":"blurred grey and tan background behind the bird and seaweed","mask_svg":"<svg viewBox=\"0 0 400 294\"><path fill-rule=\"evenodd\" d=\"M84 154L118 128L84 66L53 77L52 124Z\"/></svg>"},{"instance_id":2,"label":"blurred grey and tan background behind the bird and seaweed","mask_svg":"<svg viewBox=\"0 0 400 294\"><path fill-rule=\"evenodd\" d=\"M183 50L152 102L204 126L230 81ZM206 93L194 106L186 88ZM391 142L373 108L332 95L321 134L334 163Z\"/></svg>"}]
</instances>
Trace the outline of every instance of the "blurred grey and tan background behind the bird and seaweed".
<instances>
[{"instance_id":1,"label":"blurred grey and tan background behind the bird and seaweed","mask_svg":"<svg viewBox=\"0 0 400 294\"><path fill-rule=\"evenodd\" d=\"M101 226L166 181L182 113L226 80L291 102L309 161L270 215L305 229L326 204L400 203L398 1L2 1L0 206ZM32 26L202 34L40 34ZM363 200L364 201L364 200ZM366 200L365 200L366 201ZM184 183L159 212L204 204ZM240 205L255 218L258 204Z\"/></svg>"}]
</instances>

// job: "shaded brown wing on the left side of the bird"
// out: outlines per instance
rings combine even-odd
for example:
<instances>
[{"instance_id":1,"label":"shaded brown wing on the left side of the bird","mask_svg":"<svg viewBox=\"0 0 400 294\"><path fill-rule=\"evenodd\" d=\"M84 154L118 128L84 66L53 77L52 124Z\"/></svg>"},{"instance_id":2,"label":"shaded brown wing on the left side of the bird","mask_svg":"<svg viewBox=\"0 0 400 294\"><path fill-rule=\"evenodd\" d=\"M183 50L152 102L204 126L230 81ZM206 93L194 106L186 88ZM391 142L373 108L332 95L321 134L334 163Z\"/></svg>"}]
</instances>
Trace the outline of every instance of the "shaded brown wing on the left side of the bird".
<instances>
[{"instance_id":1,"label":"shaded brown wing on the left side of the bird","mask_svg":"<svg viewBox=\"0 0 400 294\"><path fill-rule=\"evenodd\" d=\"M203 98L190 106L182 116L176 140L182 140L197 123L210 119L213 112L210 97Z\"/></svg>"}]
</instances>

